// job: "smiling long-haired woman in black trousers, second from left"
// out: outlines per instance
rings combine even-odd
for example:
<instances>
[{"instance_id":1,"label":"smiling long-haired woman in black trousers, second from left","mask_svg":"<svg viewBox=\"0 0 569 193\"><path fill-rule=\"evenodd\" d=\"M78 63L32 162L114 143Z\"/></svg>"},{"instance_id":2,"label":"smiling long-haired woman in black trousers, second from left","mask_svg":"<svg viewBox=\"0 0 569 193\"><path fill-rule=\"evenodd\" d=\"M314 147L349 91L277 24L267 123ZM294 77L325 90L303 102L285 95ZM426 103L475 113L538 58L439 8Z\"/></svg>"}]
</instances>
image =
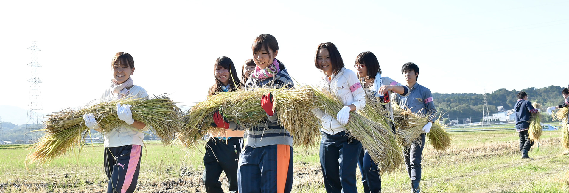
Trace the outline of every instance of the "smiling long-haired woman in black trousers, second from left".
<instances>
[{"instance_id":1,"label":"smiling long-haired woman in black trousers, second from left","mask_svg":"<svg viewBox=\"0 0 569 193\"><path fill-rule=\"evenodd\" d=\"M235 91L242 87L233 61L229 57L222 56L217 58L213 68L215 84L209 89L209 96ZM237 192L237 167L245 131L237 129L238 125L233 121L225 124L222 119L220 113L215 112L213 115L215 123L212 126L224 129L210 133L211 137L205 144L203 180L205 191L208 193L223 192L221 182L219 181L222 171L225 171L225 176L229 181L229 192ZM217 123L220 124L218 125Z\"/></svg>"}]
</instances>

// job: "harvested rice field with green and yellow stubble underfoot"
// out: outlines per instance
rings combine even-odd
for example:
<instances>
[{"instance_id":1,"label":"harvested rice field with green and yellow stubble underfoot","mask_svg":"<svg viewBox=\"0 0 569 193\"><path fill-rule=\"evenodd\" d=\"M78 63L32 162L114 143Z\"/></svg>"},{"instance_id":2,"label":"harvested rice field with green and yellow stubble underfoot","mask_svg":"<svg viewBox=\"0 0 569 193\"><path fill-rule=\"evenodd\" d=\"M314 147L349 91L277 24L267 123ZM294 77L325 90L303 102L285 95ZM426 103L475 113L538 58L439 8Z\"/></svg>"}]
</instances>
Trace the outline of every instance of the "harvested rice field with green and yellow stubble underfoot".
<instances>
[{"instance_id":1,"label":"harvested rice field with green and yellow stubble underfoot","mask_svg":"<svg viewBox=\"0 0 569 193\"><path fill-rule=\"evenodd\" d=\"M423 192L568 192L569 156L561 146L561 131L544 131L522 160L513 130L453 132L452 145L440 152L423 152ZM55 158L49 165L24 165L30 150L0 146L0 192L105 192L103 146L83 146ZM148 143L143 149L137 192L205 192L203 146ZM360 178L359 171L357 172ZM325 192L318 146L294 149L292 192ZM382 176L384 192L410 192L403 170ZM227 192L227 179L222 174ZM358 182L358 191L362 191Z\"/></svg>"}]
</instances>

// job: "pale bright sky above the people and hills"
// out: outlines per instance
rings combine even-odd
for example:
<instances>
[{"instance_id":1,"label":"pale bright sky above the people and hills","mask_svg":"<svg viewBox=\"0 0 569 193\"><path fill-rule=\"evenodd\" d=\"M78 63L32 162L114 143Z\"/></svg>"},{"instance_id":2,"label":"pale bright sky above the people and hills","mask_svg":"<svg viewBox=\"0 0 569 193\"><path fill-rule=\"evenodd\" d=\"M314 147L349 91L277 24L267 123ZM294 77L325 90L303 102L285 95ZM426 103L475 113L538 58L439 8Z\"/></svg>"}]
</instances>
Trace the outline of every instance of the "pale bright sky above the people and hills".
<instances>
[{"instance_id":1,"label":"pale bright sky above the people and hills","mask_svg":"<svg viewBox=\"0 0 569 193\"><path fill-rule=\"evenodd\" d=\"M348 69L370 51L399 82L401 66L414 62L418 83L433 93L565 86L568 8L569 1L2 1L0 108L29 108L32 41L42 49L45 115L98 99L117 52L134 57L135 85L191 106L213 84L216 58L231 58L241 73L262 33L277 38L277 58L302 84L318 83L316 48L332 42Z\"/></svg>"}]
</instances>

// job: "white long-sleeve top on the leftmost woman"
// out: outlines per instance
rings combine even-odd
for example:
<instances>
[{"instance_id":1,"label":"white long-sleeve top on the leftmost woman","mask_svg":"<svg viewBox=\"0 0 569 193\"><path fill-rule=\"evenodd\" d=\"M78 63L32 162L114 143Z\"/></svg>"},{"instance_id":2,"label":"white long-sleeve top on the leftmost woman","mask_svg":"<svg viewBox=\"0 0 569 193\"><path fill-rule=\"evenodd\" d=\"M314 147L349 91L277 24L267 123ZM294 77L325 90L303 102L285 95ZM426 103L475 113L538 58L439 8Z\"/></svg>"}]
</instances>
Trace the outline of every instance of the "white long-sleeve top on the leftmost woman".
<instances>
[{"instance_id":1,"label":"white long-sleeve top on the leftmost woman","mask_svg":"<svg viewBox=\"0 0 569 193\"><path fill-rule=\"evenodd\" d=\"M146 90L137 85L130 87L129 94L127 94L125 98L128 98L129 96L134 96L134 98L148 98ZM101 95L100 102L110 102L113 100L117 100L117 93L113 93L111 88L109 88L105 90L105 93ZM139 130L124 123L124 125L121 127L106 131L103 133L105 139L105 148L125 145L144 145L142 141L142 139L144 139L143 131L147 131L149 127L149 125L146 125L145 128Z\"/></svg>"}]
</instances>

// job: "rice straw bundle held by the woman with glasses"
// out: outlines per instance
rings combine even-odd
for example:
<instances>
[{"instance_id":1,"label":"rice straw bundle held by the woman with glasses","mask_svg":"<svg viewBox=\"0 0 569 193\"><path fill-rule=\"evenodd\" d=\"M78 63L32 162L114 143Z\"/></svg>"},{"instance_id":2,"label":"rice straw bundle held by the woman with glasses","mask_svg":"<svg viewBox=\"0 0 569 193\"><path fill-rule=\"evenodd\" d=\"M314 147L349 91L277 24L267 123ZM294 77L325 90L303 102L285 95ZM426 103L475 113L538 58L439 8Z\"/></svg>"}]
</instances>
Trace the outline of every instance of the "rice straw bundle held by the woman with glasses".
<instances>
[{"instance_id":1,"label":"rice straw bundle held by the woman with glasses","mask_svg":"<svg viewBox=\"0 0 569 193\"><path fill-rule=\"evenodd\" d=\"M392 150L391 153L398 154L398 156L389 156L389 158L393 159L391 162L389 162L389 164L391 164L389 167L398 168L403 165L403 155L401 154L403 151L395 139L395 133L393 133L391 125L389 125L389 123L393 122L393 120L390 120L389 111L383 107L385 104L386 103L380 103L377 100L366 96L364 110L358 111L358 113L364 115L365 118L368 118L369 120L382 125L382 127L386 128L388 131L391 131L392 135L388 135L386 137L389 137L389 145L391 145Z\"/></svg>"}]
</instances>

